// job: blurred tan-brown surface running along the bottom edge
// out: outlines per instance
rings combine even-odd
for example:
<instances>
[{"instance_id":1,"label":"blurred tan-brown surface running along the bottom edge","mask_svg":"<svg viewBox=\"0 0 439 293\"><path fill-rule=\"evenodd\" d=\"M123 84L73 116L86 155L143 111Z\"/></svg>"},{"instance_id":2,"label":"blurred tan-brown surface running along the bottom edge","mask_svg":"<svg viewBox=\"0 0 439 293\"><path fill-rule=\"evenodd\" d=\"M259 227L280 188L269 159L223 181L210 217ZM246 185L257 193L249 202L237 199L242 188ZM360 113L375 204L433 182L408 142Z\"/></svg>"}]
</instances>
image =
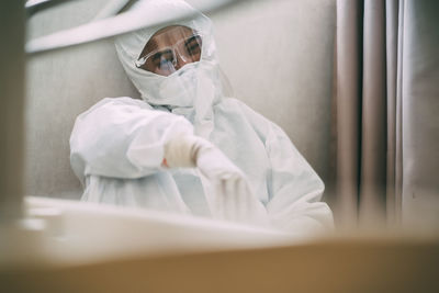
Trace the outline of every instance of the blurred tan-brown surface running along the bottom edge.
<instances>
[{"instance_id":1,"label":"blurred tan-brown surface running along the bottom edge","mask_svg":"<svg viewBox=\"0 0 439 293\"><path fill-rule=\"evenodd\" d=\"M439 245L328 241L0 272L1 292L439 292Z\"/></svg>"}]
</instances>

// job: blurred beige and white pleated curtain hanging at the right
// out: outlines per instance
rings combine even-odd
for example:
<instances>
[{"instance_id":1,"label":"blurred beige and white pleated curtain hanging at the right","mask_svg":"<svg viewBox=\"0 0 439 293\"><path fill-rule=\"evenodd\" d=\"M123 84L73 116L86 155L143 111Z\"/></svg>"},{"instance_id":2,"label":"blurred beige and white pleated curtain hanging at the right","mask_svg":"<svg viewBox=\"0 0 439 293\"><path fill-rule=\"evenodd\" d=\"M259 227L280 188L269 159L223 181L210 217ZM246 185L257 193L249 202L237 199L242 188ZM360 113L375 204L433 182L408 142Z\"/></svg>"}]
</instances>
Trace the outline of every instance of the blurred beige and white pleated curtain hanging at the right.
<instances>
[{"instance_id":1,"label":"blurred beige and white pleated curtain hanging at the right","mask_svg":"<svg viewBox=\"0 0 439 293\"><path fill-rule=\"evenodd\" d=\"M439 223L438 15L436 0L337 1L331 183L341 227Z\"/></svg>"}]
</instances>

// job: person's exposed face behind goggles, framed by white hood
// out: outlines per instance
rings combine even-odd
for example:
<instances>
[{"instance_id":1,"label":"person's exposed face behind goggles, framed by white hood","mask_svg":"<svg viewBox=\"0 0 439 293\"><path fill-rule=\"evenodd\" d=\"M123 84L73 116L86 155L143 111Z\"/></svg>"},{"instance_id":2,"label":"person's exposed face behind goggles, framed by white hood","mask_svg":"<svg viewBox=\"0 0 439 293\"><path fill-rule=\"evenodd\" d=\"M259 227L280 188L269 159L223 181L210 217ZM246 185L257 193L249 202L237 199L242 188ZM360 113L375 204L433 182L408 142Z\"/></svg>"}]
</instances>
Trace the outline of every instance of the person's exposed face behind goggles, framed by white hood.
<instances>
[{"instance_id":1,"label":"person's exposed face behind goggles, framed by white hood","mask_svg":"<svg viewBox=\"0 0 439 293\"><path fill-rule=\"evenodd\" d=\"M155 33L142 50L136 66L169 76L187 64L200 61L202 38L194 30L172 25Z\"/></svg>"}]
</instances>

